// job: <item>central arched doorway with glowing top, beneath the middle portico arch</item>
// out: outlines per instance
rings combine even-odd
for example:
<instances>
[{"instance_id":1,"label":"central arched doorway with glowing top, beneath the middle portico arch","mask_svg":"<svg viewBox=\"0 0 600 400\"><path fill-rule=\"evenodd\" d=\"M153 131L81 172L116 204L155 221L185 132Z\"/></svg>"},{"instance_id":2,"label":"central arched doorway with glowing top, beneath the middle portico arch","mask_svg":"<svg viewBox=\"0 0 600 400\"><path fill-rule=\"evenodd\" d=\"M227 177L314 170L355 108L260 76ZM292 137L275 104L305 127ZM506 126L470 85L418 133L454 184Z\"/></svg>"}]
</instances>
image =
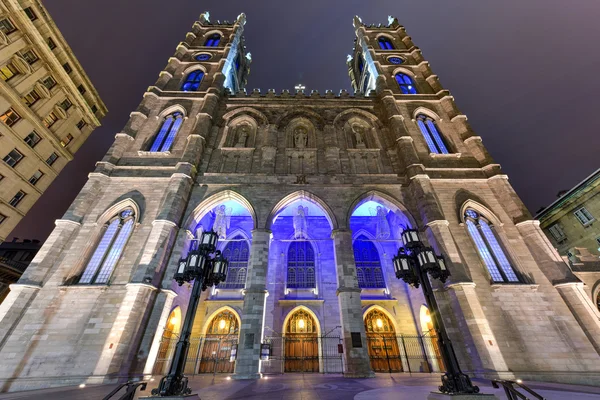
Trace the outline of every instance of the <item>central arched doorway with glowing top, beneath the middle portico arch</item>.
<instances>
[{"instance_id":1,"label":"central arched doorway with glowing top, beneath the middle portico arch","mask_svg":"<svg viewBox=\"0 0 600 400\"><path fill-rule=\"evenodd\" d=\"M306 310L295 311L285 326L285 372L319 372L317 322Z\"/></svg>"}]
</instances>

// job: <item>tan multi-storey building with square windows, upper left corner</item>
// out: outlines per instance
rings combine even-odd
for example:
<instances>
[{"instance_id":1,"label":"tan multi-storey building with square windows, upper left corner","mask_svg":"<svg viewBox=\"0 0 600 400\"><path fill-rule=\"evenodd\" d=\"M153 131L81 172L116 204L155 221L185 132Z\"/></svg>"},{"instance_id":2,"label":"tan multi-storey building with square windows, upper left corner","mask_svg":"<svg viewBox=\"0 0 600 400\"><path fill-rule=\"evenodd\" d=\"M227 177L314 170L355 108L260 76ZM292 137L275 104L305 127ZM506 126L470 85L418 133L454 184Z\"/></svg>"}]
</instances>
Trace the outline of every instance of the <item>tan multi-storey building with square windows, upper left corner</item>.
<instances>
[{"instance_id":1,"label":"tan multi-storey building with square windows, upper left corner","mask_svg":"<svg viewBox=\"0 0 600 400\"><path fill-rule=\"evenodd\" d=\"M107 110L37 0L0 1L0 78L2 242Z\"/></svg>"}]
</instances>

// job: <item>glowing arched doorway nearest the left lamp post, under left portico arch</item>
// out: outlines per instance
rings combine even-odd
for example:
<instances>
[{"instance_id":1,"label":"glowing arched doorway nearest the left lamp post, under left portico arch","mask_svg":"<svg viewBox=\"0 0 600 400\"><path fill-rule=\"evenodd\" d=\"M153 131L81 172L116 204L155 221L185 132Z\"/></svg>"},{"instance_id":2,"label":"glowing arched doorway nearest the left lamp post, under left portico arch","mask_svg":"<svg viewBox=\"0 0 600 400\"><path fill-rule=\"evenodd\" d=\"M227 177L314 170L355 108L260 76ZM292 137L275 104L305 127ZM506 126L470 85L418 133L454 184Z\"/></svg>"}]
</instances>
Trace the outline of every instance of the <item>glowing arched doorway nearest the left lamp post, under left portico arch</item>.
<instances>
[{"instance_id":1,"label":"glowing arched doorway nearest the left lamp post, under left portico arch","mask_svg":"<svg viewBox=\"0 0 600 400\"><path fill-rule=\"evenodd\" d=\"M231 354L237 349L238 331L238 319L230 310L223 310L210 320L201 338L199 373L233 373L235 357Z\"/></svg>"}]
</instances>

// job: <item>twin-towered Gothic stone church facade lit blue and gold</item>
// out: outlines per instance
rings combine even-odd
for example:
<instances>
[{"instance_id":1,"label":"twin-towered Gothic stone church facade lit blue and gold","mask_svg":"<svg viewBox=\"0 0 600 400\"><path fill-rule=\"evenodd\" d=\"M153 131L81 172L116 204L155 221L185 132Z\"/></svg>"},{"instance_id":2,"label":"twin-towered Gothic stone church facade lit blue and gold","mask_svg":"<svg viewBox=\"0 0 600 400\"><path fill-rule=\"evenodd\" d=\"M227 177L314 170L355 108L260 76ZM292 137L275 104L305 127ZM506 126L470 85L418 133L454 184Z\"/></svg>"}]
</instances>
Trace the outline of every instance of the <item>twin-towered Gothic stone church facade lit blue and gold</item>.
<instances>
[{"instance_id":1,"label":"twin-towered Gothic stone church facade lit blue and gold","mask_svg":"<svg viewBox=\"0 0 600 400\"><path fill-rule=\"evenodd\" d=\"M173 275L210 229L229 271L188 374L442 371L394 274L410 227L451 272L433 284L465 372L597 384L598 310L404 27L355 18L354 95L247 93L245 23L200 15L12 285L1 390L164 374L191 288Z\"/></svg>"}]
</instances>

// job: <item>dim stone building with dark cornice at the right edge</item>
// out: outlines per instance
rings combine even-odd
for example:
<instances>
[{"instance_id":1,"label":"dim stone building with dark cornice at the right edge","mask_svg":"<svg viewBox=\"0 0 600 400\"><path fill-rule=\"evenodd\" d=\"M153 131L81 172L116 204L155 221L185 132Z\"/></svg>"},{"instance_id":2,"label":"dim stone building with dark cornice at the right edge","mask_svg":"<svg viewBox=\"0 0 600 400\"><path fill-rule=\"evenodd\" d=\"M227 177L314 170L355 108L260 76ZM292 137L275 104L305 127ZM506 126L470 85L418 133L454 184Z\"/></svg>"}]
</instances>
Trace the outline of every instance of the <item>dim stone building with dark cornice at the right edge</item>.
<instances>
[{"instance_id":1,"label":"dim stone building with dark cornice at the right edge","mask_svg":"<svg viewBox=\"0 0 600 400\"><path fill-rule=\"evenodd\" d=\"M600 216L600 170L535 218L573 273L586 283L588 295L600 309L600 223L596 216Z\"/></svg>"}]
</instances>

